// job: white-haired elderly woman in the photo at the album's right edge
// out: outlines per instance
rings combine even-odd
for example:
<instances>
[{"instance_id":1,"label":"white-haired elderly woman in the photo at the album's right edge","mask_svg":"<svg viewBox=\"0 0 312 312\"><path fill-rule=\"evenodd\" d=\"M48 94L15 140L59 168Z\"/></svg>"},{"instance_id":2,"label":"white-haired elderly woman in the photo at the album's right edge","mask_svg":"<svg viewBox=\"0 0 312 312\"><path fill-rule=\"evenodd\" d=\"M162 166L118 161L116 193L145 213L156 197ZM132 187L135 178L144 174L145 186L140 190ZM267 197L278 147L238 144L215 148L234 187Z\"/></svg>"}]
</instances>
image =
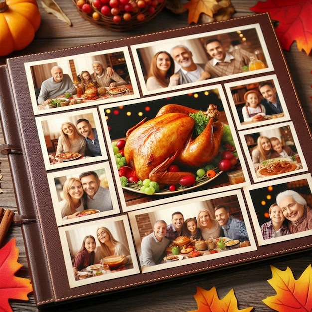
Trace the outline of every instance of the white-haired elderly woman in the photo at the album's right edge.
<instances>
[{"instance_id":1,"label":"white-haired elderly woman in the photo at the album's right edge","mask_svg":"<svg viewBox=\"0 0 312 312\"><path fill-rule=\"evenodd\" d=\"M312 229L312 210L306 200L293 190L286 190L276 196L276 203L282 209L284 217L289 221L291 233Z\"/></svg>"}]
</instances>

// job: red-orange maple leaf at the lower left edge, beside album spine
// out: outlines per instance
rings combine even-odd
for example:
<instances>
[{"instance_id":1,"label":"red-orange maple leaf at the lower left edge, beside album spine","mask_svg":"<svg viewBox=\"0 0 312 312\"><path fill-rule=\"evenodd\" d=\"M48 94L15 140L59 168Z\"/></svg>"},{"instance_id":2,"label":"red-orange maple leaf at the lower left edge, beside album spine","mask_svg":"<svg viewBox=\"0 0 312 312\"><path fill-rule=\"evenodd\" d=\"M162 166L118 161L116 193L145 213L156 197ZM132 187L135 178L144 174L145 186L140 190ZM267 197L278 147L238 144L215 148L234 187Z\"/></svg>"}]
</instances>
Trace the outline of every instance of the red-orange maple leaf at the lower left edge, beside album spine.
<instances>
[{"instance_id":1,"label":"red-orange maple leaf at the lower left edge, beside album spine","mask_svg":"<svg viewBox=\"0 0 312 312\"><path fill-rule=\"evenodd\" d=\"M8 299L29 300L27 295L32 292L30 280L15 276L22 267L18 255L15 238L0 249L0 311L12 311Z\"/></svg>"}]
</instances>

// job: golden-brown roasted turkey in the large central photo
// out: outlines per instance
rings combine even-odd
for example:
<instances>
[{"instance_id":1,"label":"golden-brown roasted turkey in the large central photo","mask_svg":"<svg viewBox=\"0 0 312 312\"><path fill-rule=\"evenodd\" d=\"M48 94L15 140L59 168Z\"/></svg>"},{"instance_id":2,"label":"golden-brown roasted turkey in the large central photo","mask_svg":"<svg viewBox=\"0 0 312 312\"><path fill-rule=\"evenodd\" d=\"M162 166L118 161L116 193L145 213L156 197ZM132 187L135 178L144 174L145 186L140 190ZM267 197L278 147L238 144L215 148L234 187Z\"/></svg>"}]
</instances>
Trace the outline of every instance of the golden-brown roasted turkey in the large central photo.
<instances>
[{"instance_id":1,"label":"golden-brown roasted turkey in the large central photo","mask_svg":"<svg viewBox=\"0 0 312 312\"><path fill-rule=\"evenodd\" d=\"M194 175L189 169L206 165L218 153L223 136L219 111L213 104L205 114L210 118L203 132L194 138L195 121L189 113L198 110L178 105L163 106L155 118L130 128L124 156L141 180L149 178L161 184L177 184L180 178ZM183 172L168 172L171 164L187 168Z\"/></svg>"}]
</instances>

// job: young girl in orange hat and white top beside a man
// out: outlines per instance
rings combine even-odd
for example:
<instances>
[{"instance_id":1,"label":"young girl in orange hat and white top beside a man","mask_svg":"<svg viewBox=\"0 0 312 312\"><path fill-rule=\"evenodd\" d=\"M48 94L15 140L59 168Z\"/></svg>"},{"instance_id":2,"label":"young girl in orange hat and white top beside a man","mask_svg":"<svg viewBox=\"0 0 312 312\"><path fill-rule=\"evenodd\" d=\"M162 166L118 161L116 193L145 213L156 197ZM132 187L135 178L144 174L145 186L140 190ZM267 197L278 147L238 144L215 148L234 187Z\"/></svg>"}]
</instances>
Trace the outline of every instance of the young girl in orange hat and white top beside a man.
<instances>
[{"instance_id":1,"label":"young girl in orange hat and white top beside a man","mask_svg":"<svg viewBox=\"0 0 312 312\"><path fill-rule=\"evenodd\" d=\"M245 106L242 108L244 121L261 121L266 114L265 107L260 104L260 93L250 90L244 94Z\"/></svg>"}]
</instances>

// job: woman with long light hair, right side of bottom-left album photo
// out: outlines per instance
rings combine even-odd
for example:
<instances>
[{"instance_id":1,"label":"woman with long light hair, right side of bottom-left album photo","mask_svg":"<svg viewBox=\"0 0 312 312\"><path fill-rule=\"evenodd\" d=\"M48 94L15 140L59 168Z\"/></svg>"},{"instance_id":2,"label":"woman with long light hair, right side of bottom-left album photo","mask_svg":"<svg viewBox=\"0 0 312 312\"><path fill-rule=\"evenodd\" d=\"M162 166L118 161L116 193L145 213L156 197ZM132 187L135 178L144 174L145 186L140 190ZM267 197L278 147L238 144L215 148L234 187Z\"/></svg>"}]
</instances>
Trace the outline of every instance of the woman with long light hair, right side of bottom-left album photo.
<instances>
[{"instance_id":1,"label":"woman with long light hair, right side of bottom-left album photo","mask_svg":"<svg viewBox=\"0 0 312 312\"><path fill-rule=\"evenodd\" d=\"M131 263L129 249L123 243L116 240L107 227L99 227L96 231L96 235L100 247L96 250L95 262L98 262L107 256L123 256L124 263Z\"/></svg>"}]
</instances>

